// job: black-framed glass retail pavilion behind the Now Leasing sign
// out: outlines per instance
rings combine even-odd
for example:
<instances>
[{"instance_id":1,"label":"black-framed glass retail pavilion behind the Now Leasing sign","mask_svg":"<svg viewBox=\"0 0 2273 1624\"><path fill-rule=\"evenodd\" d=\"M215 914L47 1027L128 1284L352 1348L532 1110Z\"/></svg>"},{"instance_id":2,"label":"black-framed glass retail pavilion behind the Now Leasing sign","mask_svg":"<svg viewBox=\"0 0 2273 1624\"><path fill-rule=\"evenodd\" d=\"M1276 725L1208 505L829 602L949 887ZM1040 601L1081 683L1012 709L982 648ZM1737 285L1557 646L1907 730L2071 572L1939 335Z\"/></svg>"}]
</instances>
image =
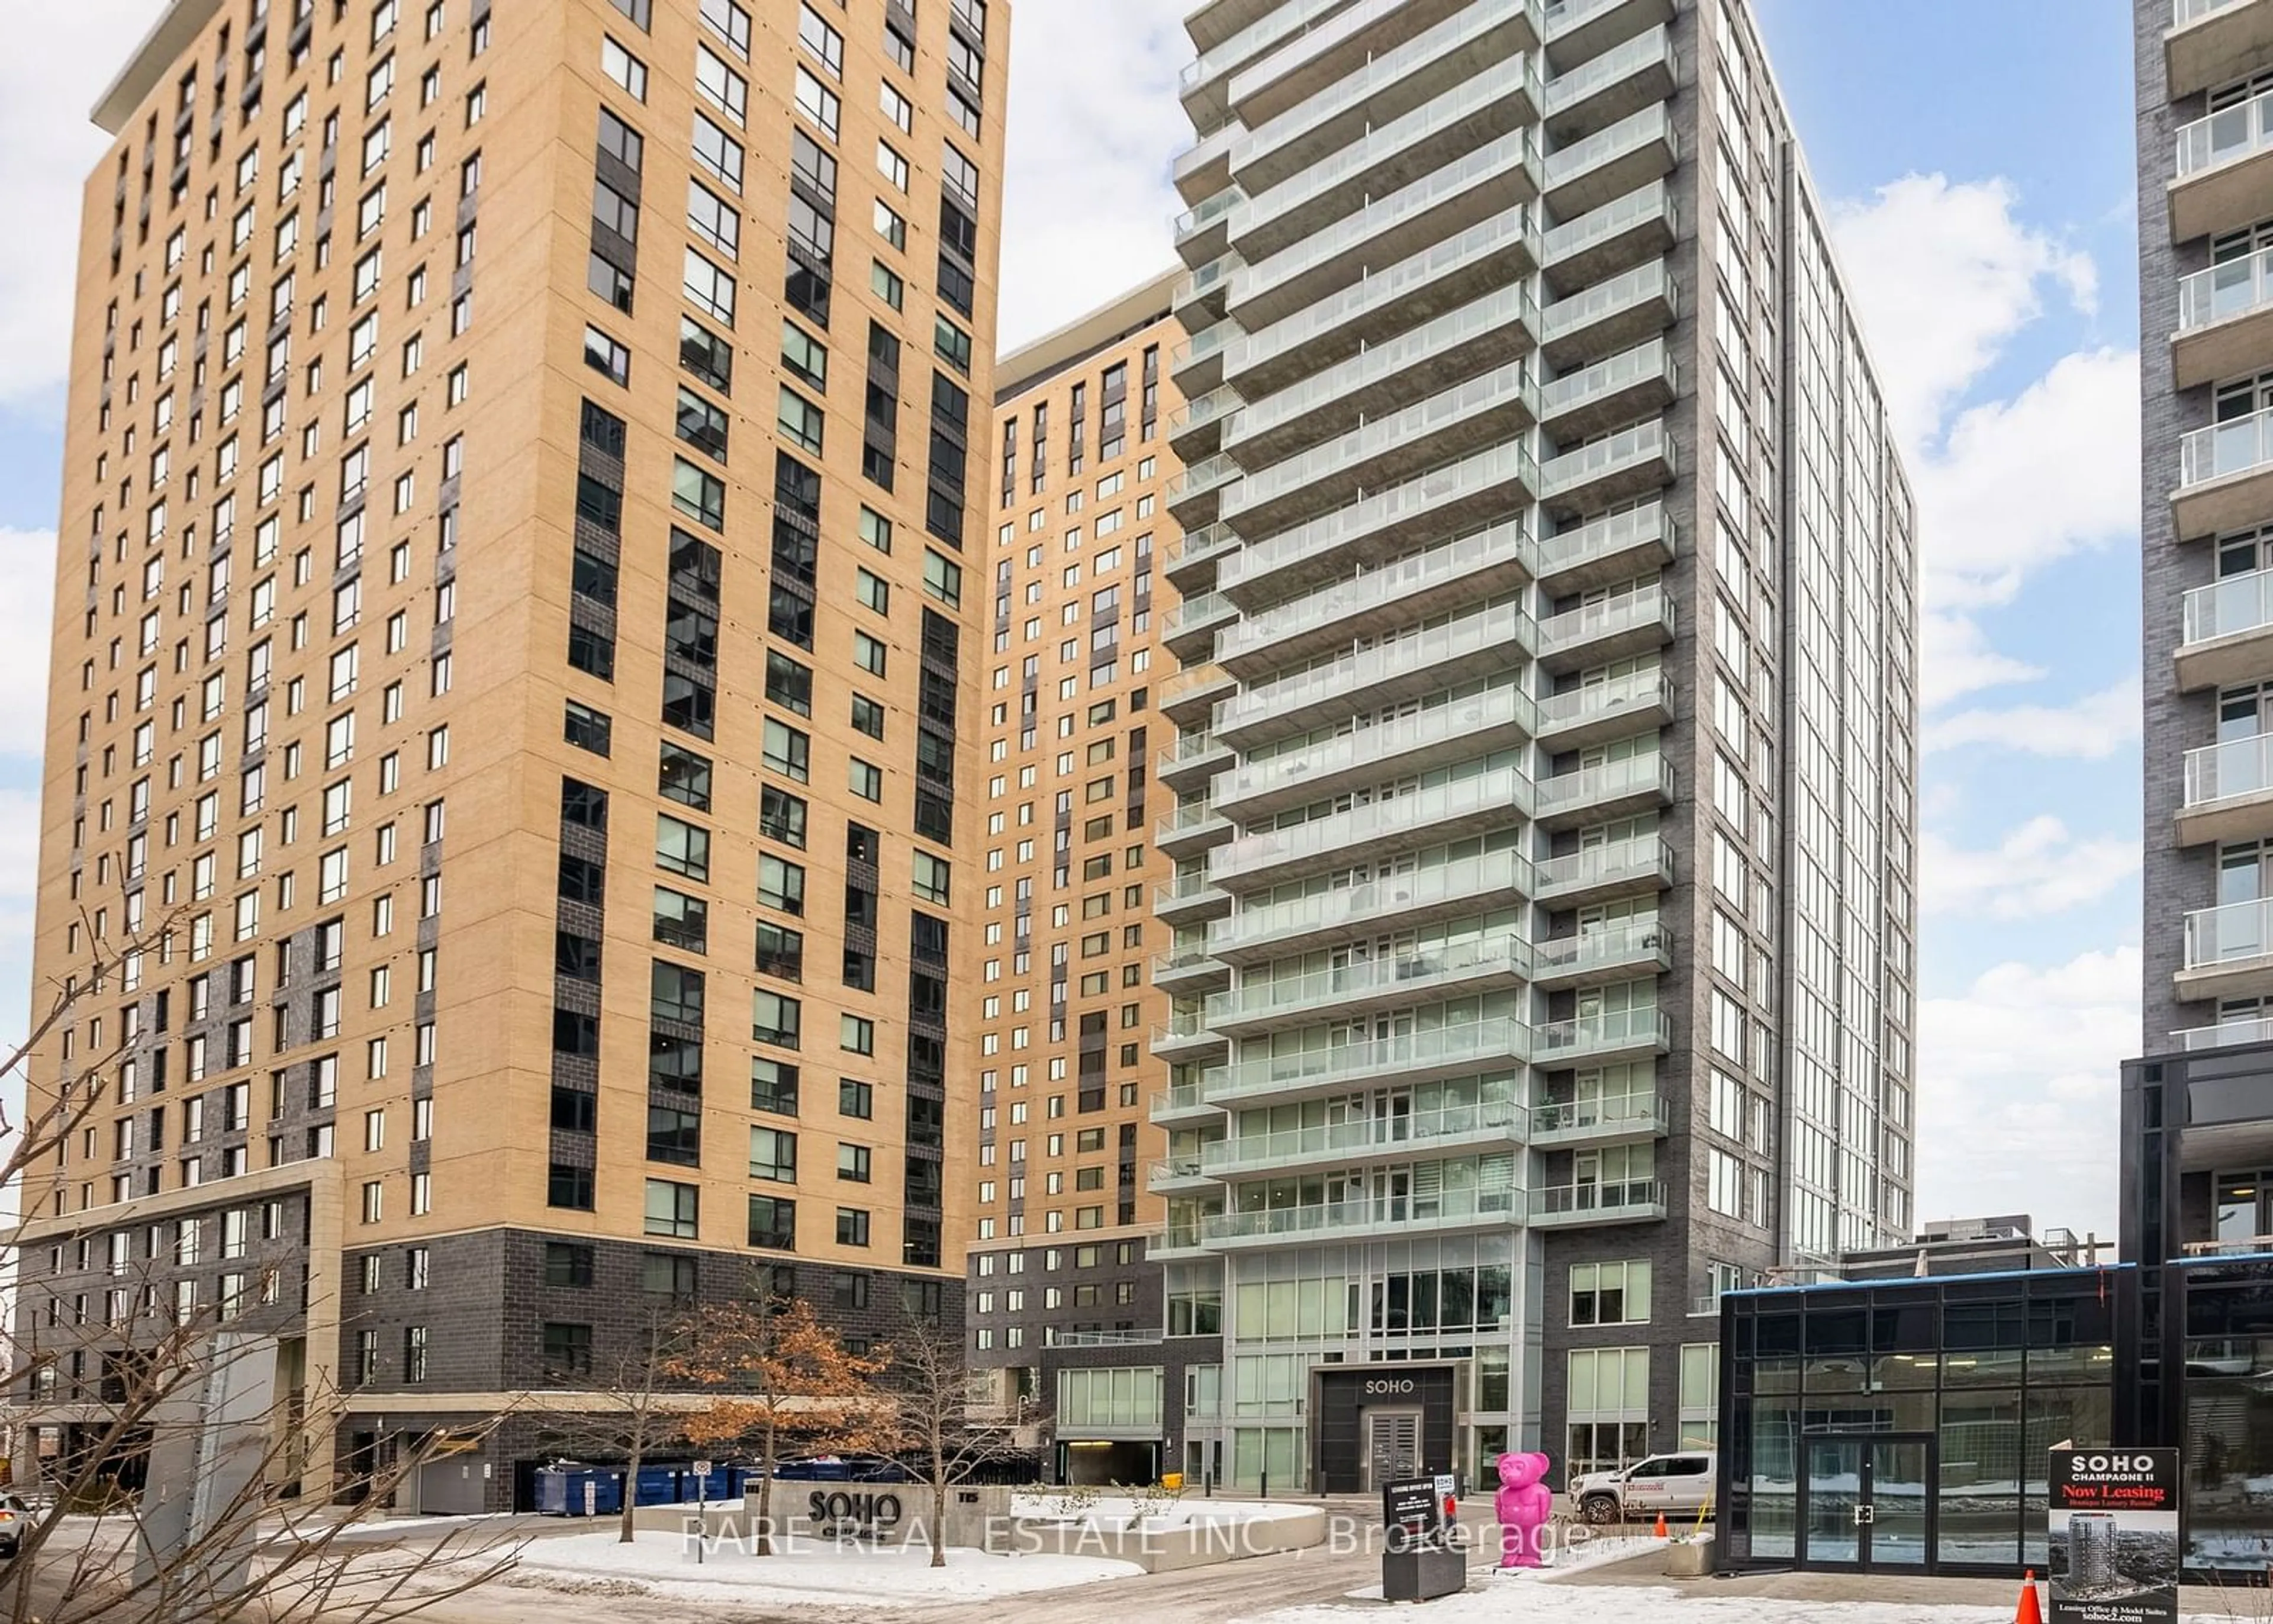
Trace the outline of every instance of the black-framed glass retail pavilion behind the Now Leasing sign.
<instances>
[{"instance_id":1,"label":"black-framed glass retail pavilion behind the Now Leasing sign","mask_svg":"<svg viewBox=\"0 0 2273 1624\"><path fill-rule=\"evenodd\" d=\"M2137 1440L2137 1269L1732 1292L1723 1567L2043 1565L2057 1442Z\"/></svg>"}]
</instances>

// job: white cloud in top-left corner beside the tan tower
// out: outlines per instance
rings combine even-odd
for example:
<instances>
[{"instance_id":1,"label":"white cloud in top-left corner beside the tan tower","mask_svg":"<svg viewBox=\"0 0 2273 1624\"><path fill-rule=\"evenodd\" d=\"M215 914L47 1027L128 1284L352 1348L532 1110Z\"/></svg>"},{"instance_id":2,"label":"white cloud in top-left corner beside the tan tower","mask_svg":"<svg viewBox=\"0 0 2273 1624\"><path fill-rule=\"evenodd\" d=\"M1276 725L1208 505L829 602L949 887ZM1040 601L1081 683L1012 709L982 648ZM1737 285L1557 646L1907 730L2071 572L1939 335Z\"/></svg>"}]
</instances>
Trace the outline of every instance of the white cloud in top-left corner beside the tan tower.
<instances>
[{"instance_id":1,"label":"white cloud in top-left corner beside the tan tower","mask_svg":"<svg viewBox=\"0 0 2273 1624\"><path fill-rule=\"evenodd\" d=\"M0 55L0 198L18 250L0 255L0 405L64 382L82 187L109 146L86 109L159 9L75 0L11 18L16 48Z\"/></svg>"}]
</instances>

